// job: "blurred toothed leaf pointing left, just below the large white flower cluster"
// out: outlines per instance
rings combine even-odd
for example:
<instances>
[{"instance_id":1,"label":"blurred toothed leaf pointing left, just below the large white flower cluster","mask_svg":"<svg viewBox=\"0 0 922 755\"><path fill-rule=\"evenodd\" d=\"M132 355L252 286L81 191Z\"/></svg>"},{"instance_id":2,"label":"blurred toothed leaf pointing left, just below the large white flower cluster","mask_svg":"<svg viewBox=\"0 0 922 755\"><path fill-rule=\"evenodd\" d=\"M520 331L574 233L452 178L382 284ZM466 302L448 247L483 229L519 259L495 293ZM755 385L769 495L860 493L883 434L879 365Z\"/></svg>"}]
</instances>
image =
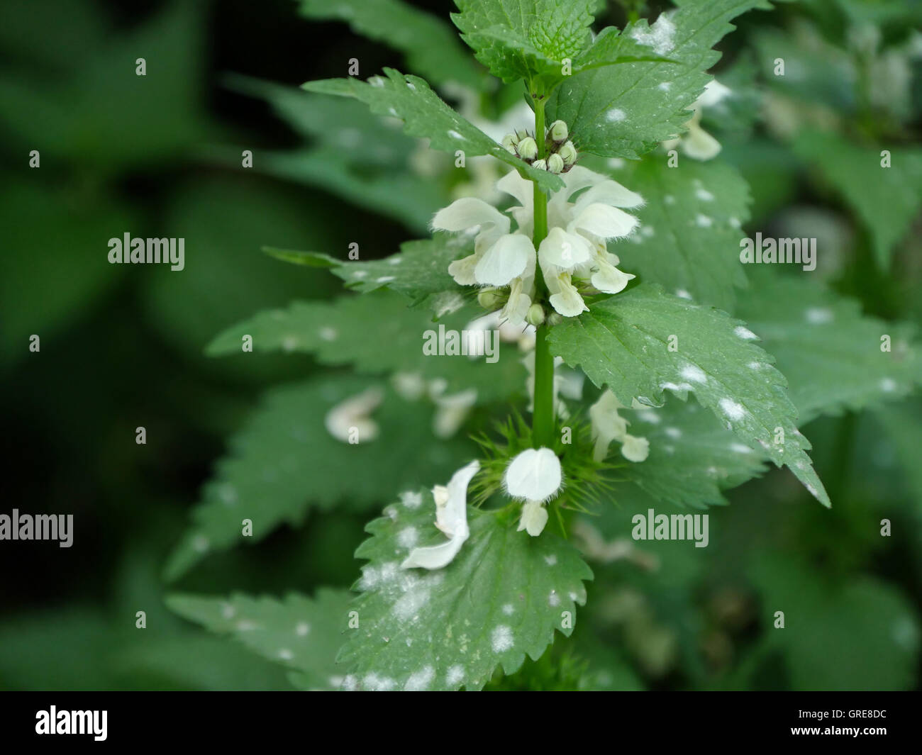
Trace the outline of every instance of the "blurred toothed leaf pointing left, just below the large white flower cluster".
<instances>
[{"instance_id":1,"label":"blurred toothed leaf pointing left, just below the large white flower cluster","mask_svg":"<svg viewBox=\"0 0 922 755\"><path fill-rule=\"evenodd\" d=\"M441 324L460 331L469 319L465 310ZM419 372L428 381L444 380L449 393L476 388L480 403L524 389L526 372L514 345L497 342L495 362L424 354L426 332L437 337L439 327L424 310L410 309L405 299L383 291L333 302L295 301L287 310L258 313L224 331L208 345L207 354L241 354L242 337L253 336L254 353L307 352L322 364L349 364L363 374Z\"/></svg>"}]
</instances>

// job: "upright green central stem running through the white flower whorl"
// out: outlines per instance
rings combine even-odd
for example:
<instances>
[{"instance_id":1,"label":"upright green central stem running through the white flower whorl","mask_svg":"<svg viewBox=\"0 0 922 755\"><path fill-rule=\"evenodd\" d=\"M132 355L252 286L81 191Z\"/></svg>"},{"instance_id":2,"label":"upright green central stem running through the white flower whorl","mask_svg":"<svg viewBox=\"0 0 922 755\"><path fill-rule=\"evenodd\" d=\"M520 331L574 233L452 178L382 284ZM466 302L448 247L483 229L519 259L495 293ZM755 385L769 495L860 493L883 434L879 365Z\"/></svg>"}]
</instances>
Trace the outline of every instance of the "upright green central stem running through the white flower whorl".
<instances>
[{"instance_id":1,"label":"upright green central stem running through the white flower whorl","mask_svg":"<svg viewBox=\"0 0 922 755\"><path fill-rule=\"evenodd\" d=\"M535 140L538 142L538 157L546 157L544 139L544 103L543 97L535 97ZM535 254L538 246L548 235L548 195L534 184L535 205ZM547 292L540 265L536 265L535 282L538 296ZM554 442L554 358L548 346L548 326L539 325L535 341L535 408L532 413L532 438L536 448L552 447Z\"/></svg>"}]
</instances>

